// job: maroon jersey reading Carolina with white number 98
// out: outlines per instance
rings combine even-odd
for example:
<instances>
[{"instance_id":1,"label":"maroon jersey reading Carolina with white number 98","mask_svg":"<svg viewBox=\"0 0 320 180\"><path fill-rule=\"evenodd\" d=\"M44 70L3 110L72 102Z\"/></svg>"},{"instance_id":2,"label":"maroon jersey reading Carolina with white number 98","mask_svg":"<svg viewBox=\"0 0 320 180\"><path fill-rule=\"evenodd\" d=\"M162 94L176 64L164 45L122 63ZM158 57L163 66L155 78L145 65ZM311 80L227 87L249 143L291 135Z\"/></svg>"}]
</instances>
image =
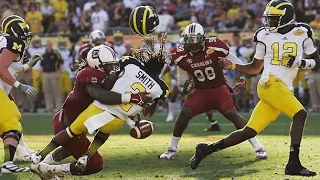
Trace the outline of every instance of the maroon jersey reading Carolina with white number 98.
<instances>
[{"instance_id":1,"label":"maroon jersey reading Carolina with white number 98","mask_svg":"<svg viewBox=\"0 0 320 180\"><path fill-rule=\"evenodd\" d=\"M205 39L205 48L201 53L193 54L181 44L171 50L173 61L193 78L195 89L210 89L226 84L219 57L226 57L229 47L218 38Z\"/></svg>"}]
</instances>

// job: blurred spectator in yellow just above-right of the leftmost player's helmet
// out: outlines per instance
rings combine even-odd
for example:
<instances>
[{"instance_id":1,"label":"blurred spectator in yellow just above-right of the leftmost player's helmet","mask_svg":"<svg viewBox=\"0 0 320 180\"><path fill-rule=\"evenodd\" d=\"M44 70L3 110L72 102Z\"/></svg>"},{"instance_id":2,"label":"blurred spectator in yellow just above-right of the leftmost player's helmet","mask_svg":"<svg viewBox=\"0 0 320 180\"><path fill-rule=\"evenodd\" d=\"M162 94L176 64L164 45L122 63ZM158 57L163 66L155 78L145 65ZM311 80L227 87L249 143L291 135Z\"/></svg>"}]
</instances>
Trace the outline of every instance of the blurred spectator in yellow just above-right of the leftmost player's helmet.
<instances>
[{"instance_id":1,"label":"blurred spectator in yellow just above-right of the leftmost player's helmet","mask_svg":"<svg viewBox=\"0 0 320 180\"><path fill-rule=\"evenodd\" d=\"M30 5L30 11L27 12L25 20L29 24L33 34L40 34L42 32L43 17L41 12L36 10L35 4Z\"/></svg>"}]
</instances>

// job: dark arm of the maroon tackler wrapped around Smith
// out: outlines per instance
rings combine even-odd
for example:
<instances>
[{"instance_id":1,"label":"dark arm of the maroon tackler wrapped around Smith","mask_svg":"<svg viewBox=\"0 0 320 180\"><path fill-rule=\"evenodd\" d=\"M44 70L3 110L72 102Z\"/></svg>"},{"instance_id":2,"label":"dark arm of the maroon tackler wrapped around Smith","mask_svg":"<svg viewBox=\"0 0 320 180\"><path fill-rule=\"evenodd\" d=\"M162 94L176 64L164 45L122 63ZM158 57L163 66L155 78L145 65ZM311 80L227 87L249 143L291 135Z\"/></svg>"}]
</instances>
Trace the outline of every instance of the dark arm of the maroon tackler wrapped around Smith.
<instances>
[{"instance_id":1,"label":"dark arm of the maroon tackler wrapped around Smith","mask_svg":"<svg viewBox=\"0 0 320 180\"><path fill-rule=\"evenodd\" d=\"M100 84L86 84L88 94L95 100L107 105L121 104L121 94L106 91Z\"/></svg>"}]
</instances>

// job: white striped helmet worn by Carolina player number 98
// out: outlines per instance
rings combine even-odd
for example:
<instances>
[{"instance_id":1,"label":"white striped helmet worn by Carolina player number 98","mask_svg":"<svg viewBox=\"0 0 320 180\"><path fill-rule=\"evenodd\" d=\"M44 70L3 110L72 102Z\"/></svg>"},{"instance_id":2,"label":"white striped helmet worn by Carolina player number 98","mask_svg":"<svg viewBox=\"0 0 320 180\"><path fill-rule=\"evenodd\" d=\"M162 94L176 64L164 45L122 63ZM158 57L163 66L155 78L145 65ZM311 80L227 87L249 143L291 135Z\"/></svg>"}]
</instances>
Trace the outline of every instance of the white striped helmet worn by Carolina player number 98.
<instances>
[{"instance_id":1,"label":"white striped helmet worn by Carolina player number 98","mask_svg":"<svg viewBox=\"0 0 320 180\"><path fill-rule=\"evenodd\" d=\"M204 49L205 32L198 23L189 24L183 31L183 39L186 47L193 53Z\"/></svg>"}]
</instances>

